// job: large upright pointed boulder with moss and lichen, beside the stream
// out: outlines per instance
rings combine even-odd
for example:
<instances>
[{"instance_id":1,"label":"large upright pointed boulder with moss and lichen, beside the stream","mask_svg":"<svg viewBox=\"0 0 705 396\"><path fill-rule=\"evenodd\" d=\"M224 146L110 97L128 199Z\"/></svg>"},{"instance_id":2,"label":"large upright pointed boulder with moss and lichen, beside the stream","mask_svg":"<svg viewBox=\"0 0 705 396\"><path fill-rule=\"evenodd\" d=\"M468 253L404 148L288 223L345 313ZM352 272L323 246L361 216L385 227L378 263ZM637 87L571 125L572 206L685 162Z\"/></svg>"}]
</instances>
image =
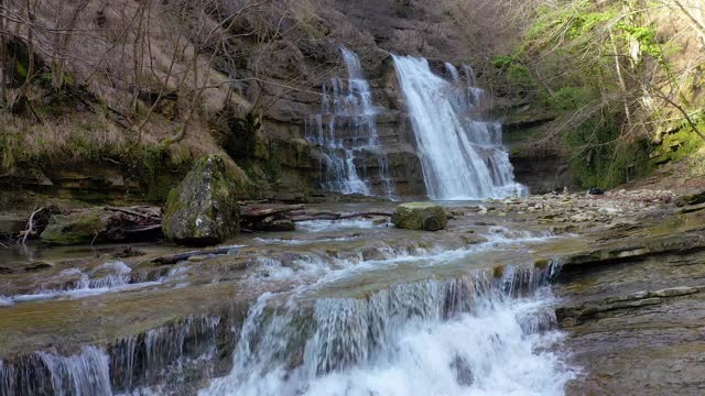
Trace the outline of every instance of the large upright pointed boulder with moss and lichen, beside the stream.
<instances>
[{"instance_id":1,"label":"large upright pointed boulder with moss and lichen, beside the stream","mask_svg":"<svg viewBox=\"0 0 705 396\"><path fill-rule=\"evenodd\" d=\"M171 241L210 245L239 231L237 188L219 155L200 158L166 200L162 229Z\"/></svg>"}]
</instances>

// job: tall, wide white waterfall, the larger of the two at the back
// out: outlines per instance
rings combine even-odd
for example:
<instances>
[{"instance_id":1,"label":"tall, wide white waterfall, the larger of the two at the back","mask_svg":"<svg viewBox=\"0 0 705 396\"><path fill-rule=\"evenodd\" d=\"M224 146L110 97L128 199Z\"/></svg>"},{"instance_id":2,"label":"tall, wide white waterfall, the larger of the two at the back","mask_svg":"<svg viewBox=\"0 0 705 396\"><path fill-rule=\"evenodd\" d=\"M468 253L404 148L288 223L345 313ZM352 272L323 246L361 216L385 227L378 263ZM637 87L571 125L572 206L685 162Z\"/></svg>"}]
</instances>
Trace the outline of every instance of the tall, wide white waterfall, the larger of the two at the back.
<instances>
[{"instance_id":1,"label":"tall, wide white waterfall, the larger of the two at the back","mask_svg":"<svg viewBox=\"0 0 705 396\"><path fill-rule=\"evenodd\" d=\"M502 145L501 124L474 112L484 100L475 73L445 67L453 82L431 70L424 58L393 55L397 76L416 138L426 191L432 199L503 198L524 195Z\"/></svg>"}]
</instances>

